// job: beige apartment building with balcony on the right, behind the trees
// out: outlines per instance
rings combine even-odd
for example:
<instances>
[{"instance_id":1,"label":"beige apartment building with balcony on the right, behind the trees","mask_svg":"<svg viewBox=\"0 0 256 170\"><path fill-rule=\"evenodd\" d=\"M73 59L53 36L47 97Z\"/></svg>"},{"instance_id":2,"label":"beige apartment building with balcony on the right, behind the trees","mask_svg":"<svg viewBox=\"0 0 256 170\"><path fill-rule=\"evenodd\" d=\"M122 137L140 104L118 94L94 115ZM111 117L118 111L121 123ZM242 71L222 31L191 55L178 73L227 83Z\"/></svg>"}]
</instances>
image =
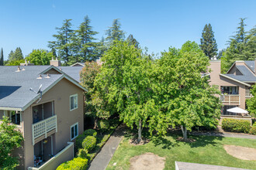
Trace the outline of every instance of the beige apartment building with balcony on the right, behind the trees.
<instances>
[{"instance_id":1,"label":"beige apartment building with balcony on the right, behind the trees","mask_svg":"<svg viewBox=\"0 0 256 170\"><path fill-rule=\"evenodd\" d=\"M247 109L246 100L250 99L251 86L256 83L256 59L254 61L236 61L226 74L220 73L220 60L211 60L209 68L210 84L220 88L220 100L223 103L222 116L234 115L227 111L232 107Z\"/></svg>"}]
</instances>

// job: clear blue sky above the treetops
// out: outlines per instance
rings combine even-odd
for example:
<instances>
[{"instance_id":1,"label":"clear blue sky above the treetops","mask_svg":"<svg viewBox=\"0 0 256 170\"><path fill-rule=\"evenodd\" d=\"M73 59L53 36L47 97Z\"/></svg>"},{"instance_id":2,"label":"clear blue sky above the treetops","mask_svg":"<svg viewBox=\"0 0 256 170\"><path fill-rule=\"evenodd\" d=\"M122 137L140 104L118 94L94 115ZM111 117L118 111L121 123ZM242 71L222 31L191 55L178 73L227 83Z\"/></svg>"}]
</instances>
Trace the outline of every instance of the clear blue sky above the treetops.
<instances>
[{"instance_id":1,"label":"clear blue sky above the treetops","mask_svg":"<svg viewBox=\"0 0 256 170\"><path fill-rule=\"evenodd\" d=\"M140 46L149 52L160 53L174 46L180 48L187 40L200 42L202 29L211 23L219 49L225 48L229 36L234 35L239 18L246 19L246 30L256 25L254 0L8 0L0 6L0 48L5 59L16 47L24 56L32 49L48 49L54 40L55 27L64 19L73 19L76 29L85 15L105 36L113 19L120 19L126 36L133 34Z\"/></svg>"}]
</instances>

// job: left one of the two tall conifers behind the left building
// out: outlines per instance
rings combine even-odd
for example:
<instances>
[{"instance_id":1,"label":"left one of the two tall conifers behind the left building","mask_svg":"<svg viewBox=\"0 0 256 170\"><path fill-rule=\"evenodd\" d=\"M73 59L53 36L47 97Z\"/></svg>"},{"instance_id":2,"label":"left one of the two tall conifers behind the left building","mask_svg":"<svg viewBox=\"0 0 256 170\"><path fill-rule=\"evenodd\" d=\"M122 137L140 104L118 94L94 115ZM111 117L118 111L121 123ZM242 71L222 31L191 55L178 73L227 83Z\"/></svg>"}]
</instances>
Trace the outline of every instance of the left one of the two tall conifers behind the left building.
<instances>
[{"instance_id":1,"label":"left one of the two tall conifers behind the left building","mask_svg":"<svg viewBox=\"0 0 256 170\"><path fill-rule=\"evenodd\" d=\"M64 61L64 64L69 64L69 60L72 58L72 51L74 48L74 30L71 29L71 20L65 19L61 27L57 27L57 34L54 34L55 41L50 41L48 47L57 50L58 56Z\"/></svg>"}]
</instances>

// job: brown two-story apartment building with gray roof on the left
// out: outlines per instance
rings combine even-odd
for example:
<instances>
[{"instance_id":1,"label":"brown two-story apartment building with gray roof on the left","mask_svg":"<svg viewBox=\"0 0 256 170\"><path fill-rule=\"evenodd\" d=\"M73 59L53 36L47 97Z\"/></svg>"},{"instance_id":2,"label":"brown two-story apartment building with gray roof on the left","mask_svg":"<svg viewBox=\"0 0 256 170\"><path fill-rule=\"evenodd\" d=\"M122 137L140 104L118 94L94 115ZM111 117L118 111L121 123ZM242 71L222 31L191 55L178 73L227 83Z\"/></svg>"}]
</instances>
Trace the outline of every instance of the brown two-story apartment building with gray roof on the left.
<instances>
[{"instance_id":1,"label":"brown two-story apartment building with gray roof on the left","mask_svg":"<svg viewBox=\"0 0 256 170\"><path fill-rule=\"evenodd\" d=\"M0 66L0 73L0 117L24 137L13 152L18 169L56 169L71 160L84 131L86 89L55 66Z\"/></svg>"}]
</instances>

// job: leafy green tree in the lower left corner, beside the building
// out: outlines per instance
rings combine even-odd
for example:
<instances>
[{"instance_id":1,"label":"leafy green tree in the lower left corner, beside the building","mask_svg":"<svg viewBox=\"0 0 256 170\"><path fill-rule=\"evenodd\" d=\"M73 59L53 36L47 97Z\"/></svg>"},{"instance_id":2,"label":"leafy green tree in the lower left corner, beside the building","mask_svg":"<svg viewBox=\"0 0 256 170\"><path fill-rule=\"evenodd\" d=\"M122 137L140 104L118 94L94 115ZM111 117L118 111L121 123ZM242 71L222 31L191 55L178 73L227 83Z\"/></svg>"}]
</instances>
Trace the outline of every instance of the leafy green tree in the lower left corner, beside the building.
<instances>
[{"instance_id":1,"label":"leafy green tree in the lower left corner, beside the building","mask_svg":"<svg viewBox=\"0 0 256 170\"><path fill-rule=\"evenodd\" d=\"M23 137L16 124L11 124L8 117L3 117L0 121L0 169L16 169L19 161L12 156L12 151L21 147Z\"/></svg>"}]
</instances>

